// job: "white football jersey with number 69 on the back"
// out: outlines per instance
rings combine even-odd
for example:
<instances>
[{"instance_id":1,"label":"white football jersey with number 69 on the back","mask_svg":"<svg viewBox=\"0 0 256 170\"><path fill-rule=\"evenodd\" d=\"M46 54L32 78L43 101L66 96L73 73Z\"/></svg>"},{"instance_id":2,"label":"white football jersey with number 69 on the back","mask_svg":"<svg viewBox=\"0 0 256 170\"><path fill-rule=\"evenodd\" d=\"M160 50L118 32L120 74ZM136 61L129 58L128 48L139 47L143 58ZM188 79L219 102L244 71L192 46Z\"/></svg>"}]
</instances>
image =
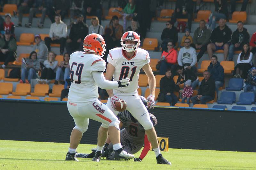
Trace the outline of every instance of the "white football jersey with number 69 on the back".
<instances>
[{"instance_id":1,"label":"white football jersey with number 69 on the back","mask_svg":"<svg viewBox=\"0 0 256 170\"><path fill-rule=\"evenodd\" d=\"M92 77L92 72L105 71L106 62L95 54L74 52L70 55L69 65L71 87L68 101L82 103L97 100L98 86Z\"/></svg>"}]
</instances>

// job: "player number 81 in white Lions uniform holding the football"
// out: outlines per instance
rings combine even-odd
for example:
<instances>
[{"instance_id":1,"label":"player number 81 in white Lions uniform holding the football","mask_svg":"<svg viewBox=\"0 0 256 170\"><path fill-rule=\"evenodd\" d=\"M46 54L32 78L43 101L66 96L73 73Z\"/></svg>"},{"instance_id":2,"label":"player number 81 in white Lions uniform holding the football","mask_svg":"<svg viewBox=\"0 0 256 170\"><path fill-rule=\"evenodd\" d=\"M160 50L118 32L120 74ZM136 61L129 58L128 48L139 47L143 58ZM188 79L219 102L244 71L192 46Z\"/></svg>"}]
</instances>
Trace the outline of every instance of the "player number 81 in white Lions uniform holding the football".
<instances>
[{"instance_id":1,"label":"player number 81 in white Lions uniform holding the football","mask_svg":"<svg viewBox=\"0 0 256 170\"><path fill-rule=\"evenodd\" d=\"M121 45L123 46L122 48L109 50L106 80L111 80L113 77L113 81L118 81L122 80L124 77L128 77L130 78L130 86L107 90L109 95L107 106L117 115L118 111L116 111L115 101L120 99L125 100L127 103L126 110L128 110L145 129L148 140L156 153L156 162L158 164L171 165L171 163L164 159L160 153L156 131L150 121L148 110L140 100L137 92L137 89L139 88L139 73L142 68L148 76L150 90L150 95L147 98L148 108L153 109L155 105L154 94L156 79L149 66L149 54L146 50L139 48L140 37L133 31L125 32L124 35L122 35ZM108 127L105 124L102 124L99 129L99 134L105 133L105 131L108 131ZM100 141L99 143L102 146L106 141L107 137L105 137L106 136L98 136L98 142Z\"/></svg>"}]
</instances>

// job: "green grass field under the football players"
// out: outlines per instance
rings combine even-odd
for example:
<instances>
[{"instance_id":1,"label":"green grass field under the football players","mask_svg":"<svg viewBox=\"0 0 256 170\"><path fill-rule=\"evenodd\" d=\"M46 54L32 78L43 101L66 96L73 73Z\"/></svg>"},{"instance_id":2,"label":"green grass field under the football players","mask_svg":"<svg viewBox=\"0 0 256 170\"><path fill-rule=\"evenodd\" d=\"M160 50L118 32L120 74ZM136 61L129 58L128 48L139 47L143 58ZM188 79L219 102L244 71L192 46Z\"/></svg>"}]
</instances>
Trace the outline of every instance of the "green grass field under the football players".
<instances>
[{"instance_id":1,"label":"green grass field under the football players","mask_svg":"<svg viewBox=\"0 0 256 170\"><path fill-rule=\"evenodd\" d=\"M169 149L163 152L172 166L157 165L154 152L150 151L142 162L109 161L99 163L79 158L79 162L65 161L68 144L0 140L0 169L256 169L256 153L227 152L189 149ZM77 151L89 153L95 145L79 145ZM138 157L140 152L136 153Z\"/></svg>"}]
</instances>

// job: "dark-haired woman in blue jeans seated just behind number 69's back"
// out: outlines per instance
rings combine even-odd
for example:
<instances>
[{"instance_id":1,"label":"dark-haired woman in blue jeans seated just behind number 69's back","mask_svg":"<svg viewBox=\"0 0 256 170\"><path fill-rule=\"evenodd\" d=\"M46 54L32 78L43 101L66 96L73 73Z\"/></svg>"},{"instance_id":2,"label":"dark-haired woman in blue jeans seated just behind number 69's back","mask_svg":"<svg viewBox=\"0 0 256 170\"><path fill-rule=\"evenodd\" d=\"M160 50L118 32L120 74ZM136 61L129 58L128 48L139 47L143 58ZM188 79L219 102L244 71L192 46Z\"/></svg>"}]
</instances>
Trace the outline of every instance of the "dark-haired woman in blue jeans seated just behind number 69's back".
<instances>
[{"instance_id":1,"label":"dark-haired woman in blue jeans seated just behind number 69's back","mask_svg":"<svg viewBox=\"0 0 256 170\"><path fill-rule=\"evenodd\" d=\"M63 61L60 62L60 65L56 70L56 77L55 77L54 84L59 84L60 80L63 80L63 81L60 81L60 84L65 84L66 79L64 78L68 77L69 70L70 70L69 54L65 53L63 56Z\"/></svg>"}]
</instances>

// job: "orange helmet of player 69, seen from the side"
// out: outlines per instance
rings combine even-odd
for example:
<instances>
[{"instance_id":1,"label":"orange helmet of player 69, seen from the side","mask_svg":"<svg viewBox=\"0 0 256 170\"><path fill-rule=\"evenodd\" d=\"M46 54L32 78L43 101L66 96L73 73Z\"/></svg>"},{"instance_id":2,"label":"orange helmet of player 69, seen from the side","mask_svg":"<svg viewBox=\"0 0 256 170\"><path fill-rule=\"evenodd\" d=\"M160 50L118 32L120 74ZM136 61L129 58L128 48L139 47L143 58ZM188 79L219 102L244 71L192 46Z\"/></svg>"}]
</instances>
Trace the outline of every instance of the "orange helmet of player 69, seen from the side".
<instances>
[{"instance_id":1,"label":"orange helmet of player 69, seen from the side","mask_svg":"<svg viewBox=\"0 0 256 170\"><path fill-rule=\"evenodd\" d=\"M84 38L84 51L95 52L100 57L103 57L106 52L106 44L100 34L89 34Z\"/></svg>"}]
</instances>

